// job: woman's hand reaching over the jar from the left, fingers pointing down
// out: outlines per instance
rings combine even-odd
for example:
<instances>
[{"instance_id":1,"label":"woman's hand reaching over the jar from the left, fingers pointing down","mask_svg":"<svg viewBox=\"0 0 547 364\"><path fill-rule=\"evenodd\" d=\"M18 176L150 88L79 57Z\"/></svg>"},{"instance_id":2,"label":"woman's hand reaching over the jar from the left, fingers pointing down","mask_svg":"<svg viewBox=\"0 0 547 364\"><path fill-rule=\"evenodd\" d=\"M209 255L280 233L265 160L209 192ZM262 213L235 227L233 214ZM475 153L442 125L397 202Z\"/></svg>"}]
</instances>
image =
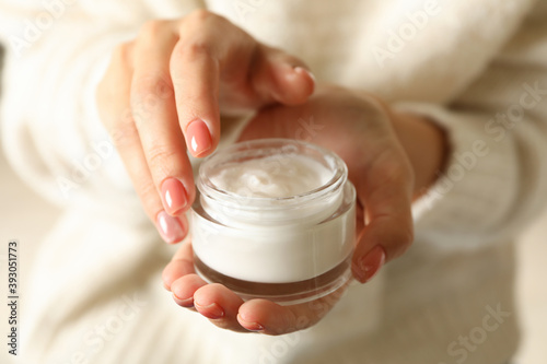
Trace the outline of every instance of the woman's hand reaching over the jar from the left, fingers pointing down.
<instances>
[{"instance_id":1,"label":"woman's hand reaching over the jar from the left, fingers pointing down","mask_svg":"<svg viewBox=\"0 0 547 364\"><path fill-rule=\"evenodd\" d=\"M176 243L195 198L187 146L206 156L219 142L221 114L295 105L313 89L303 62L200 10L151 21L117 47L96 98L146 212Z\"/></svg>"}]
</instances>

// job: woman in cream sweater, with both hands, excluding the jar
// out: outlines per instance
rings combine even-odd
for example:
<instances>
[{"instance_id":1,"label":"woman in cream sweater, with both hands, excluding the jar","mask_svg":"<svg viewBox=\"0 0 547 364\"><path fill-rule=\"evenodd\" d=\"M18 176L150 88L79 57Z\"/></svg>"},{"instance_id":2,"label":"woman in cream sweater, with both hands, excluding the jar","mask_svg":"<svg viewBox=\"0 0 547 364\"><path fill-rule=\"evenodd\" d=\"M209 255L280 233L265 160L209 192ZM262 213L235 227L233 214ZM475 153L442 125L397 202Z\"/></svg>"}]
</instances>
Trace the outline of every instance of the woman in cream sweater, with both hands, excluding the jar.
<instances>
[{"instance_id":1,"label":"woman in cream sweater, with both hands, excluding the jar","mask_svg":"<svg viewBox=\"0 0 547 364\"><path fill-rule=\"evenodd\" d=\"M15 8L2 15L4 145L26 180L66 206L27 293L39 302L26 313L31 360L511 359L511 242L547 196L546 5ZM306 139L346 161L361 206L352 272L365 284L281 307L206 284L189 239L167 263L159 236L178 243L188 231L195 157L264 137ZM189 310L160 291L164 265L164 286Z\"/></svg>"}]
</instances>

